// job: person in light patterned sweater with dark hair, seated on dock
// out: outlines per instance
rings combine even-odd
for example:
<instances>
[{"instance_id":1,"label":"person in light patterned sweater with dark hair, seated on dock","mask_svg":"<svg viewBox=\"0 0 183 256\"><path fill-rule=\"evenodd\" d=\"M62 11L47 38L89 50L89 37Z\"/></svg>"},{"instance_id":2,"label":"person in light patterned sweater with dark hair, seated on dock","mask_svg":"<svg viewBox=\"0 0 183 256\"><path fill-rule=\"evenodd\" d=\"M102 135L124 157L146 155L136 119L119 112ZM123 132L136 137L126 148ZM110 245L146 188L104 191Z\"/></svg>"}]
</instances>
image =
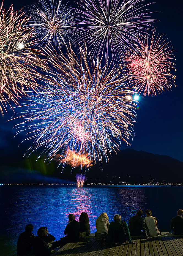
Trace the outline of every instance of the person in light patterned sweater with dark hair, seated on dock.
<instances>
[{"instance_id":1,"label":"person in light patterned sweater with dark hair, seated on dock","mask_svg":"<svg viewBox=\"0 0 183 256\"><path fill-rule=\"evenodd\" d=\"M145 217L144 220L145 220L148 236L160 235L161 232L158 230L157 219L152 216L151 210L146 211L146 216L147 217Z\"/></svg>"}]
</instances>

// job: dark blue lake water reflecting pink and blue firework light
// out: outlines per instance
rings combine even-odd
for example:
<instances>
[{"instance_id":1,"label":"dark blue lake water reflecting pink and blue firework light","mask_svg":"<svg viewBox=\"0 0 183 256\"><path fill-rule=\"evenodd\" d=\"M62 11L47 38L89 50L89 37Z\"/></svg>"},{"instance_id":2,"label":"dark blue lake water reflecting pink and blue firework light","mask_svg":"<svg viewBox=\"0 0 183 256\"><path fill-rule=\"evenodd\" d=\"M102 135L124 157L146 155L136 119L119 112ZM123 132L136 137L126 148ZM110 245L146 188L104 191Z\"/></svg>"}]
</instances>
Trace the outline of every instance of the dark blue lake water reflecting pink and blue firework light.
<instances>
[{"instance_id":1,"label":"dark blue lake water reflecting pink and blue firework light","mask_svg":"<svg viewBox=\"0 0 183 256\"><path fill-rule=\"evenodd\" d=\"M151 209L159 230L169 232L171 218L183 209L182 192L183 186L0 186L0 255L16 253L18 235L26 224L33 224L34 235L45 226L60 239L68 214L78 220L82 211L89 215L91 233L101 213L106 212L109 221L120 214L128 222L138 209L144 214Z\"/></svg>"}]
</instances>

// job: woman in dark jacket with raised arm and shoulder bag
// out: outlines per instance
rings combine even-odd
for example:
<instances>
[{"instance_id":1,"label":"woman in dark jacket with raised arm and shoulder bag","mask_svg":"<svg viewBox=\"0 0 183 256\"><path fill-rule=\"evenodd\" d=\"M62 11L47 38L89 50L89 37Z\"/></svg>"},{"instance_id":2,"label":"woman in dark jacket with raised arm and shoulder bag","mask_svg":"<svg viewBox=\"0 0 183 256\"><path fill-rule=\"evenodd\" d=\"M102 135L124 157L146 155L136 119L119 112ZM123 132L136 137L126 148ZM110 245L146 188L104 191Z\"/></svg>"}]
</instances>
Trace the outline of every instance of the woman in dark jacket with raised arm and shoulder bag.
<instances>
[{"instance_id":1,"label":"woman in dark jacket with raised arm and shoulder bag","mask_svg":"<svg viewBox=\"0 0 183 256\"><path fill-rule=\"evenodd\" d=\"M61 241L54 242L56 238L48 232L47 227L40 227L37 231L37 236L35 236L33 241L33 251L35 256L49 256L51 249L54 249L61 245ZM51 243L52 248L48 250L45 243Z\"/></svg>"}]
</instances>

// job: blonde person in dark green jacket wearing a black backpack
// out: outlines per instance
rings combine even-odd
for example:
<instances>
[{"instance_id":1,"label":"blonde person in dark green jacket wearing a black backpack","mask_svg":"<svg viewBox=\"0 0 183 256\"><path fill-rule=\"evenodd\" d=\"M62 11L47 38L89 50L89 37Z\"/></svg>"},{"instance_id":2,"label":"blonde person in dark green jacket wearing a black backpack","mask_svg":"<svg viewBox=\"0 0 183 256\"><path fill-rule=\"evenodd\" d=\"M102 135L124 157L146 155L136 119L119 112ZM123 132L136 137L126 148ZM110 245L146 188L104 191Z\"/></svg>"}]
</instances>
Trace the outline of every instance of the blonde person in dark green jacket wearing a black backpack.
<instances>
[{"instance_id":1,"label":"blonde person in dark green jacket wearing a black backpack","mask_svg":"<svg viewBox=\"0 0 183 256\"><path fill-rule=\"evenodd\" d=\"M121 215L115 214L114 221L110 222L107 243L125 243L128 240L129 244L136 244L132 242L130 237L130 232L127 223L123 220L121 221Z\"/></svg>"}]
</instances>

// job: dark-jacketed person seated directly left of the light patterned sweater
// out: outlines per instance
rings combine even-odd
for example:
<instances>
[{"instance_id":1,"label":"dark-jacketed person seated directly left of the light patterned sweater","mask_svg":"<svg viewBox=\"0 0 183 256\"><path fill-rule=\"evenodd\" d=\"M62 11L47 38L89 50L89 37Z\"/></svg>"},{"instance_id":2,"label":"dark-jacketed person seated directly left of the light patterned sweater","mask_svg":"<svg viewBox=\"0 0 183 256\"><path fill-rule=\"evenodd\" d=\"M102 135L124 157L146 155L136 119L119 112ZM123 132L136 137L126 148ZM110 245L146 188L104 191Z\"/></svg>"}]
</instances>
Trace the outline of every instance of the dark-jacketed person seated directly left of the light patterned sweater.
<instances>
[{"instance_id":1,"label":"dark-jacketed person seated directly left of the light patterned sweater","mask_svg":"<svg viewBox=\"0 0 183 256\"><path fill-rule=\"evenodd\" d=\"M129 219L128 227L131 236L141 236L150 239L147 234L145 220L142 217L143 211L138 210L136 215ZM143 232L141 232L143 230Z\"/></svg>"}]
</instances>

